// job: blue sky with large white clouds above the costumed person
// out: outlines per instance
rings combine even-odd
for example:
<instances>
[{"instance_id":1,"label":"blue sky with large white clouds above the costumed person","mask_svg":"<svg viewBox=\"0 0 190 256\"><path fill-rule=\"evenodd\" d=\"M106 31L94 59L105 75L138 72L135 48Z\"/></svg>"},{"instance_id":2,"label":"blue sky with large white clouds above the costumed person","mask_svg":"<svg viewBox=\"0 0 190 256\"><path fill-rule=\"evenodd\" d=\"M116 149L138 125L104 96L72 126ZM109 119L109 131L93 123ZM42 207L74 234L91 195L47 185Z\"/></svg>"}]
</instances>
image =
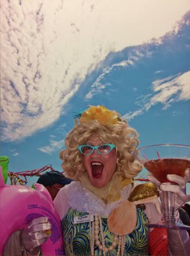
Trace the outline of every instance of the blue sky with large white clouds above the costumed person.
<instances>
[{"instance_id":1,"label":"blue sky with large white clouds above the costumed person","mask_svg":"<svg viewBox=\"0 0 190 256\"><path fill-rule=\"evenodd\" d=\"M9 170L61 171L73 113L89 105L120 112L140 146L190 144L189 1L142 2L3 3L1 155Z\"/></svg>"}]
</instances>

